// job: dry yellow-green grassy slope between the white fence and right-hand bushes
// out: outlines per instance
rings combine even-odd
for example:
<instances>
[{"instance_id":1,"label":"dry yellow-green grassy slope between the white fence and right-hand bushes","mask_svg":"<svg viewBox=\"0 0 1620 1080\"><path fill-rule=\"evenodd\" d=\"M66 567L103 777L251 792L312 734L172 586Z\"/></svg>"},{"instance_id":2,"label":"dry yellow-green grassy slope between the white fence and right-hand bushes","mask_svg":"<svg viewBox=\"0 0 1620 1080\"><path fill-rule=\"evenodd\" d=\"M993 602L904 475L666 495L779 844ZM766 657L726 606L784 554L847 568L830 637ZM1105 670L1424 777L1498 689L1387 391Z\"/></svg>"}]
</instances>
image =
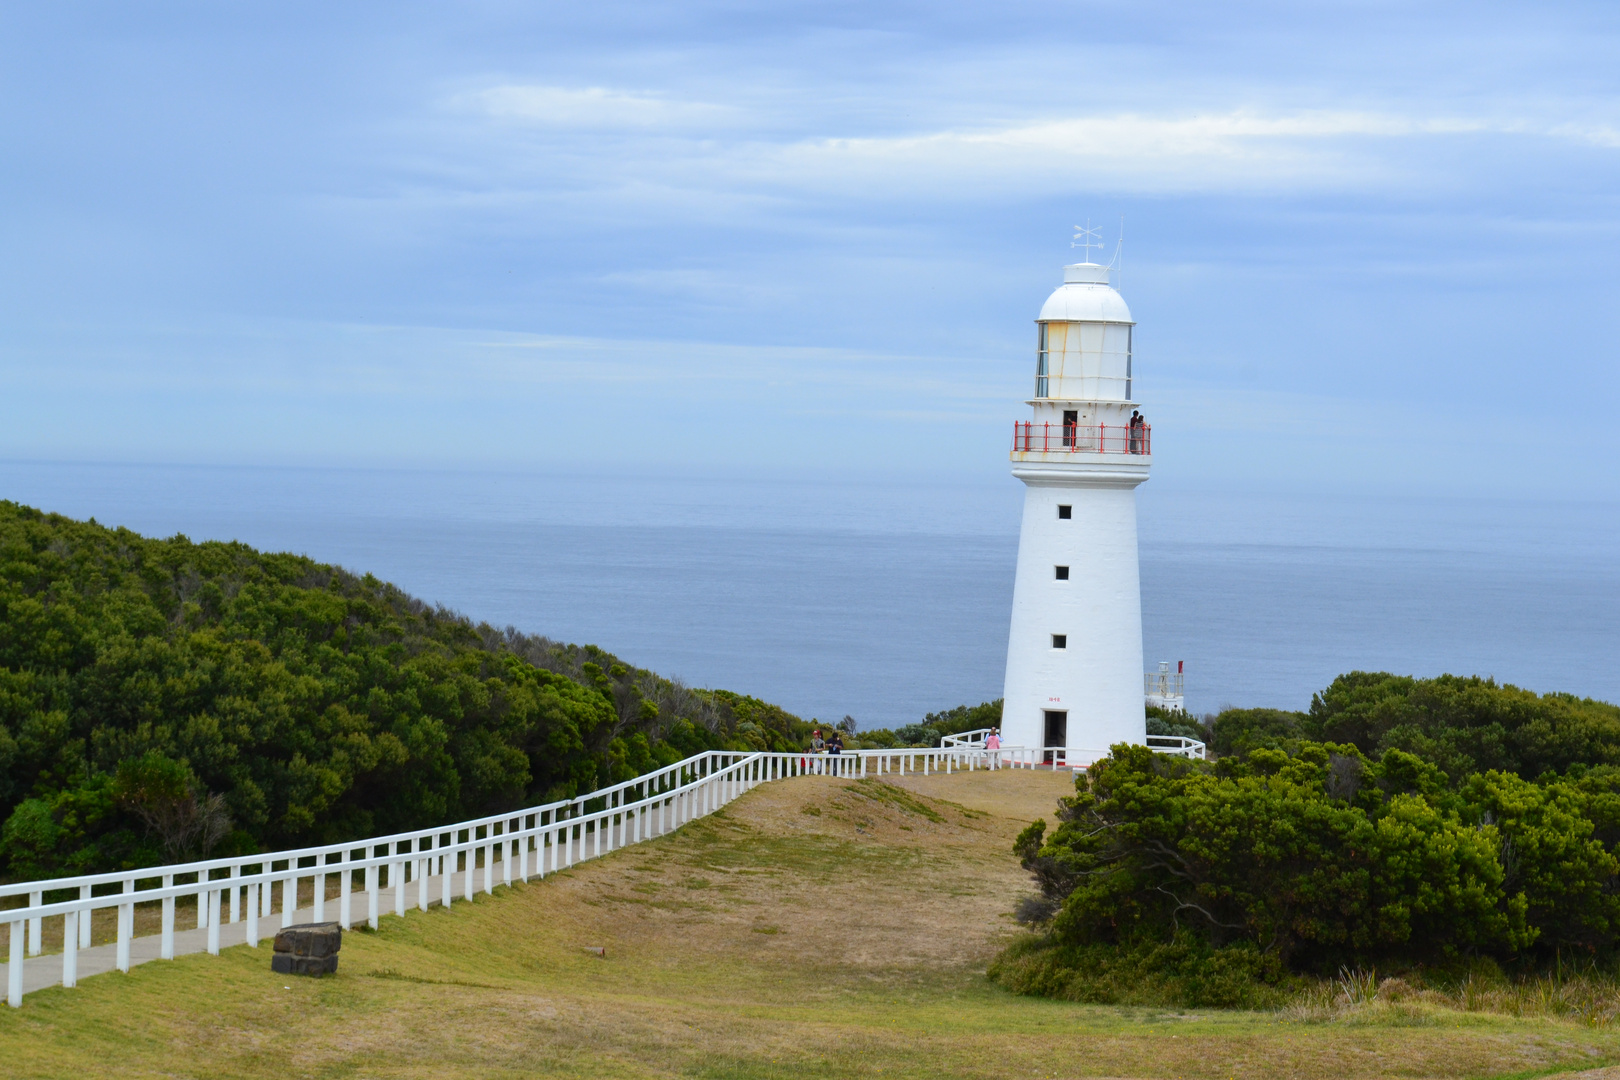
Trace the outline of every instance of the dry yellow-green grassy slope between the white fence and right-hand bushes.
<instances>
[{"instance_id":1,"label":"dry yellow-green grassy slope between the white fence and right-hand bushes","mask_svg":"<svg viewBox=\"0 0 1620 1080\"><path fill-rule=\"evenodd\" d=\"M345 938L329 980L266 949L0 1010L10 1075L1529 1077L1620 1061L1601 1018L1468 1001L1272 1014L1017 997L1009 845L1066 777L771 784L682 831ZM586 947L606 949L604 957ZM1330 984L1328 984L1330 988ZM1479 1009L1479 1006L1474 1006Z\"/></svg>"}]
</instances>

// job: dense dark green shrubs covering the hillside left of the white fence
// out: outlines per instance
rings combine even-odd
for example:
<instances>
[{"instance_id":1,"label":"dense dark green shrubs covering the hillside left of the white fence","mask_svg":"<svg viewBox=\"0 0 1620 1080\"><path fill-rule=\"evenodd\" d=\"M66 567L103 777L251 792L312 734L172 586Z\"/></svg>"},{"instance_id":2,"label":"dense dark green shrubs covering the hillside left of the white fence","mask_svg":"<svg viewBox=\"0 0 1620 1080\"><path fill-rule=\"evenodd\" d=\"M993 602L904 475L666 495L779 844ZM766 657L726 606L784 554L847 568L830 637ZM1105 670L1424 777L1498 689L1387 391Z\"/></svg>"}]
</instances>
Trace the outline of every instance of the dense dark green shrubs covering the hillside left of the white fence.
<instances>
[{"instance_id":1,"label":"dense dark green shrubs covering the hillside left of the white fence","mask_svg":"<svg viewBox=\"0 0 1620 1080\"><path fill-rule=\"evenodd\" d=\"M421 827L807 733L373 576L0 502L13 878Z\"/></svg>"}]
</instances>

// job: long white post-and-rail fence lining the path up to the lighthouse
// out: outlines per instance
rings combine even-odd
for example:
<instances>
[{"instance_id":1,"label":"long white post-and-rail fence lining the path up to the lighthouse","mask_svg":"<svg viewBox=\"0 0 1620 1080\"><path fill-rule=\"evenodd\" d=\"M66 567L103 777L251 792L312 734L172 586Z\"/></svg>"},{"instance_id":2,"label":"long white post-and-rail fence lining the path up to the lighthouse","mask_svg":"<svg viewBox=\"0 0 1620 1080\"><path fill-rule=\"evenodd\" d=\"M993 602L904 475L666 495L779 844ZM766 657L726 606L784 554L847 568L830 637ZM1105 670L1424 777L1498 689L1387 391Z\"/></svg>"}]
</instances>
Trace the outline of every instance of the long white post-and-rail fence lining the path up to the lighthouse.
<instances>
[{"instance_id":1,"label":"long white post-and-rail fence lining the path up to the lighthouse","mask_svg":"<svg viewBox=\"0 0 1620 1080\"><path fill-rule=\"evenodd\" d=\"M977 732L967 735L974 733ZM1153 745L1155 742L1165 745ZM1150 737L1149 745L1163 753L1200 758L1204 750L1204 743L1196 740L1160 737ZM24 954L40 955L47 918L62 918L60 981L63 986L75 986L78 954L91 947L92 915L104 908L117 908L115 967L128 972L138 904L162 905L159 959L172 960L177 902L194 897L196 929L207 931L206 950L217 955L225 925L241 925L245 942L254 947L266 936L261 934L261 920L274 923L279 915L280 926L290 926L300 910L298 889L303 879L311 879L313 884L314 921L327 921L327 905L335 904L337 921L345 928L353 926L356 918L364 918L376 928L384 892L392 894L394 913L400 916L410 907L426 912L436 900L450 907L457 899L457 876L462 879L460 899L471 900L480 886L483 892L492 892L496 884L544 878L627 844L664 836L771 780L794 776L854 779L964 769L1084 767L1106 755L1105 748L985 750L982 745L855 750L839 755L711 750L582 798L433 829L290 852L13 882L0 886L0 897L26 895L28 902L24 907L0 910L0 923L8 925L10 936L6 1001L13 1007L23 1004ZM335 878L337 897L327 899L327 878ZM78 895L45 902L49 892ZM415 904L410 904L411 892ZM363 915L356 913L356 900Z\"/></svg>"}]
</instances>

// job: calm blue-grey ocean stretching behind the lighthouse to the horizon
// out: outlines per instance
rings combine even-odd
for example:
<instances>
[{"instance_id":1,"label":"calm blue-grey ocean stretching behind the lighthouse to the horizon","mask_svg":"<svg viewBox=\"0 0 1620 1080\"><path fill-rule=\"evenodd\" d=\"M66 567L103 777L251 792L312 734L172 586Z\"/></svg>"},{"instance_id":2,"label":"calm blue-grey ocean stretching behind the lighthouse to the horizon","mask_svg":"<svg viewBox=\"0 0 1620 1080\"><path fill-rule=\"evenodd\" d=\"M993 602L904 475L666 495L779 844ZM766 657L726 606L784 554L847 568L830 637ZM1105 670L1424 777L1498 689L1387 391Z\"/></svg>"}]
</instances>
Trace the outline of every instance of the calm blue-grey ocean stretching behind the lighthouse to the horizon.
<instances>
[{"instance_id":1,"label":"calm blue-grey ocean stretching behind the lighthouse to the horizon","mask_svg":"<svg viewBox=\"0 0 1620 1080\"><path fill-rule=\"evenodd\" d=\"M1001 695L1011 476L748 478L0 463L0 499L295 551L497 627L804 717ZM1620 505L1139 489L1145 665L1187 708L1302 709L1348 670L1620 701Z\"/></svg>"}]
</instances>

